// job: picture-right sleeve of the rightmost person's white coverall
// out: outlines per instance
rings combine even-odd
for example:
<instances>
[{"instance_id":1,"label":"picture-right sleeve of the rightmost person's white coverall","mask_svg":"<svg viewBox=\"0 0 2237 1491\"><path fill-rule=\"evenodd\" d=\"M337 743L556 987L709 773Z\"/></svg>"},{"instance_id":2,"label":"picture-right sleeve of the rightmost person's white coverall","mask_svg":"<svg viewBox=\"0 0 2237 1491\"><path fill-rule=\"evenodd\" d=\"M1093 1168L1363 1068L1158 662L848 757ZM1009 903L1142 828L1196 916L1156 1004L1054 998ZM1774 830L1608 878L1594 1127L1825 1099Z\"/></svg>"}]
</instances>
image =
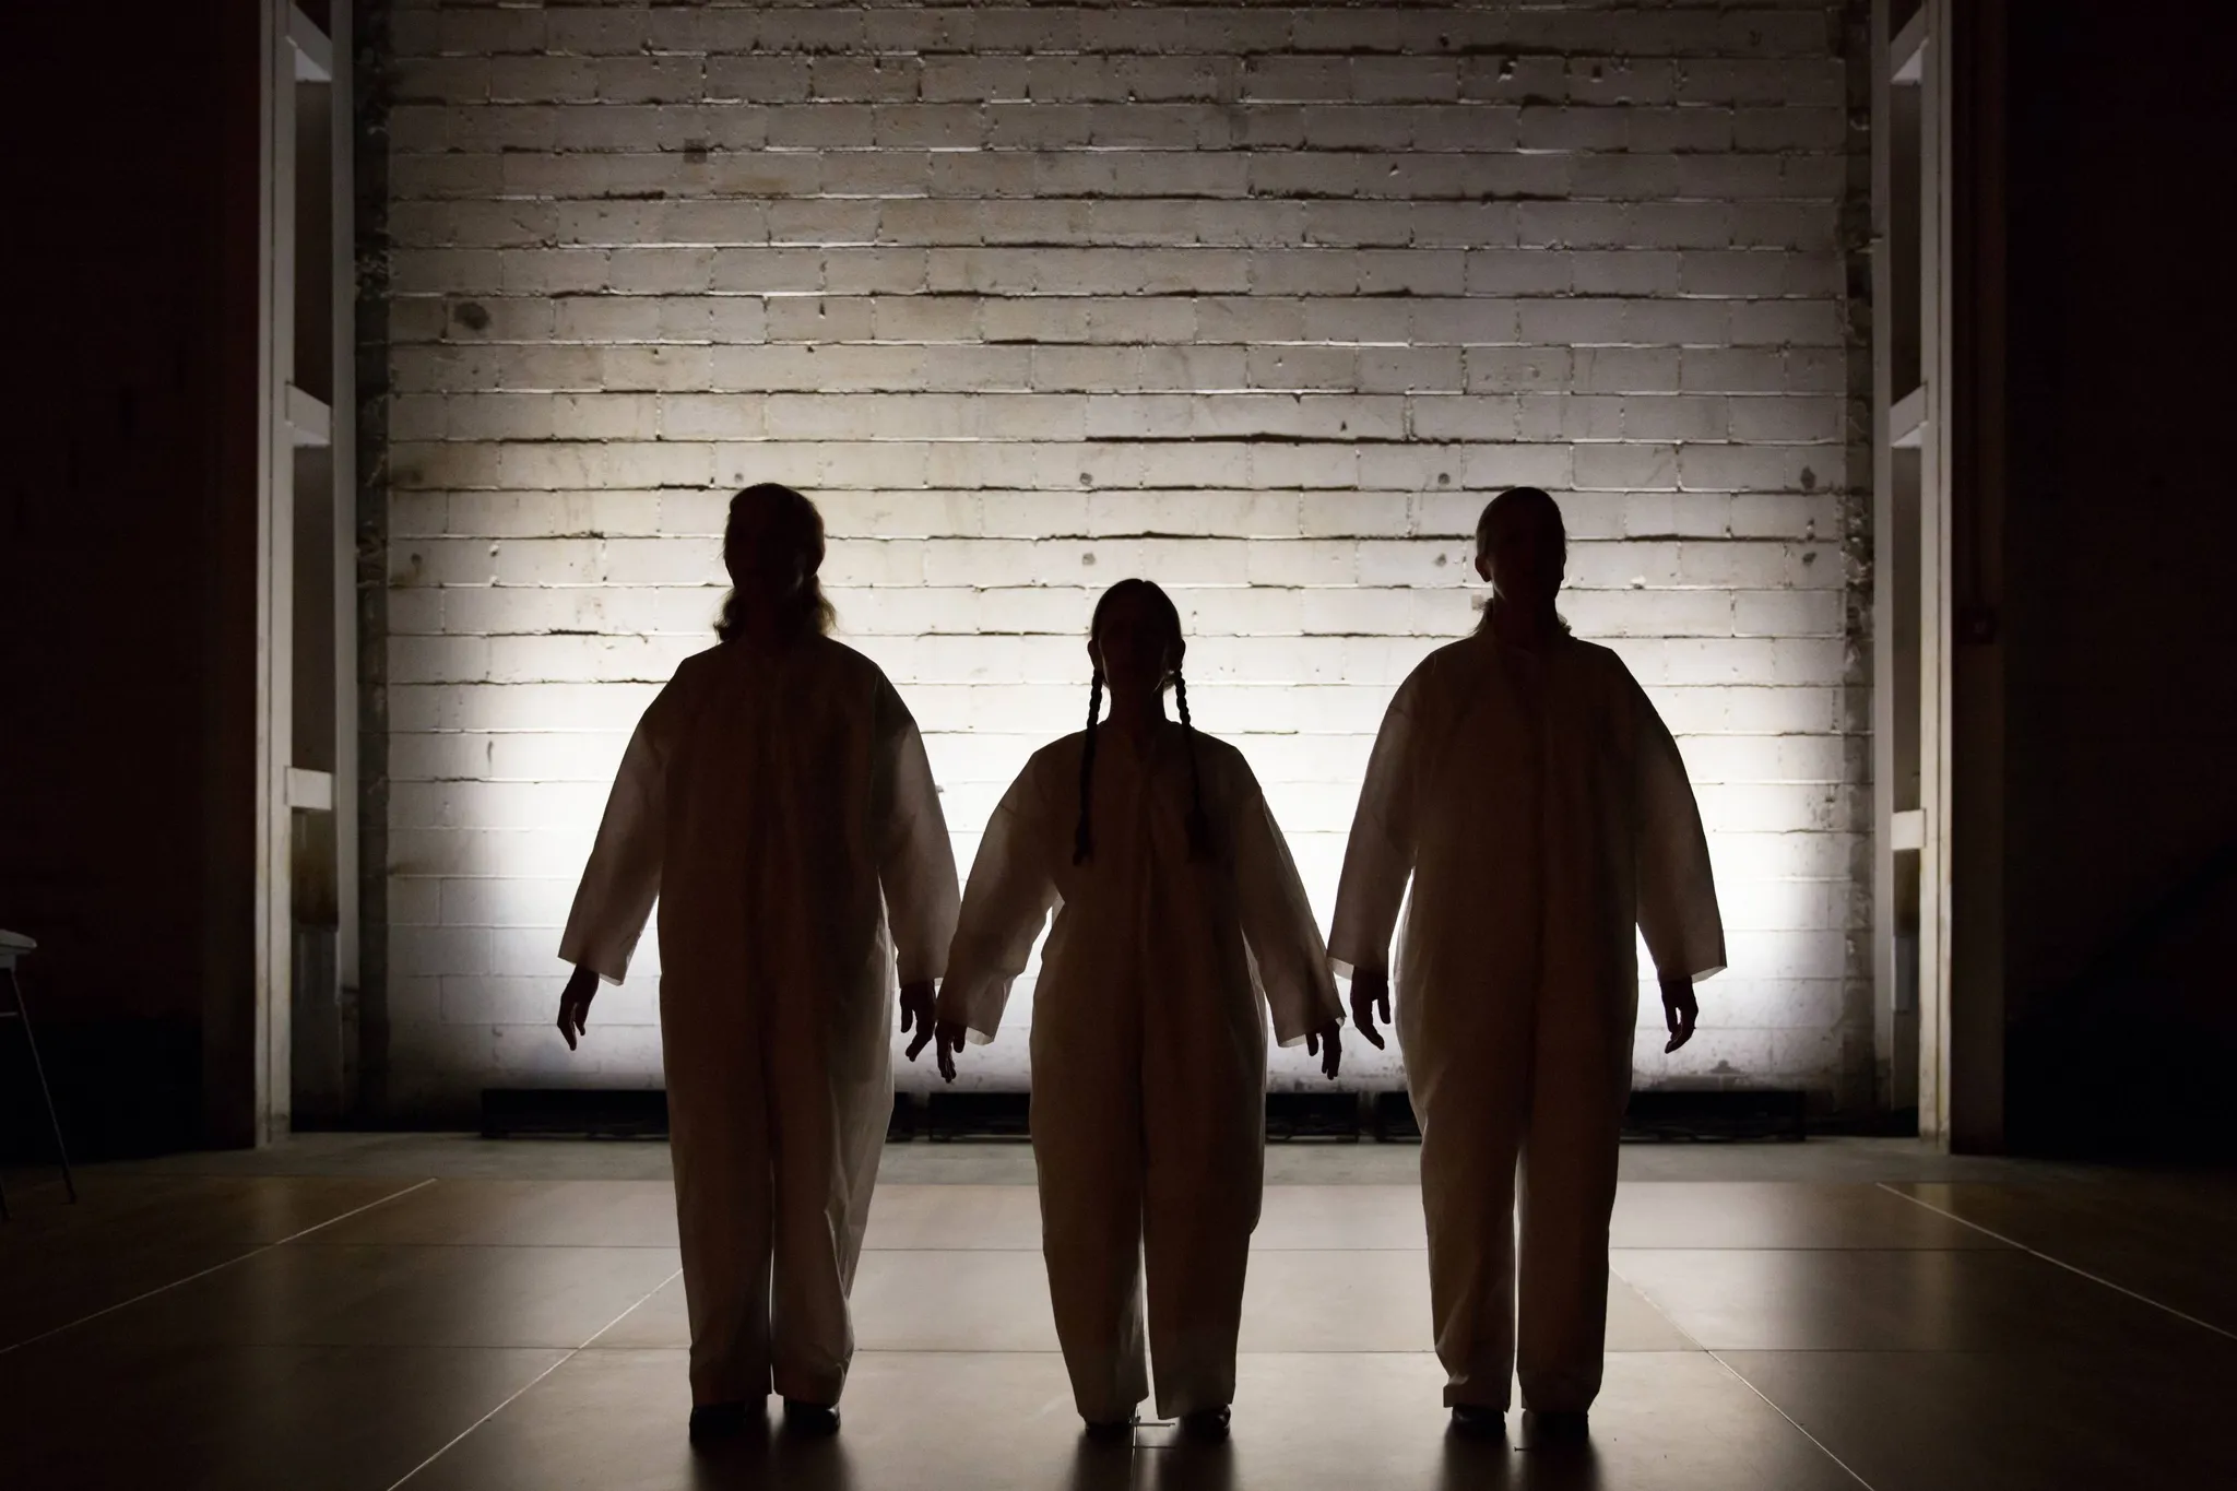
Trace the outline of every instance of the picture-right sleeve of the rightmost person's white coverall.
<instances>
[{"instance_id":1,"label":"picture-right sleeve of the rightmost person's white coverall","mask_svg":"<svg viewBox=\"0 0 2237 1491\"><path fill-rule=\"evenodd\" d=\"M1709 836L1669 726L1631 684L1640 805L1640 934L1664 979L1707 979L1725 970L1725 917L1716 905Z\"/></svg>"}]
</instances>

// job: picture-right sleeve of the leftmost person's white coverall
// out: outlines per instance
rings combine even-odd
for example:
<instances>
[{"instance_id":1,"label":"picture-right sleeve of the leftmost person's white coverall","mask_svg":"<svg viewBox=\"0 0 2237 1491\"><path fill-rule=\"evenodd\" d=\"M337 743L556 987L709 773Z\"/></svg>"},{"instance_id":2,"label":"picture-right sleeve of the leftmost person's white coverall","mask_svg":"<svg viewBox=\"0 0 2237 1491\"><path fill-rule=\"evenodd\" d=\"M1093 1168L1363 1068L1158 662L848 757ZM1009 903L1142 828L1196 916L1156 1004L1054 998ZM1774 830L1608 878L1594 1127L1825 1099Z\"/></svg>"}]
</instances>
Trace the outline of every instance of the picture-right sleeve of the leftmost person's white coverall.
<instances>
[{"instance_id":1,"label":"picture-right sleeve of the leftmost person's white coverall","mask_svg":"<svg viewBox=\"0 0 2237 1491\"><path fill-rule=\"evenodd\" d=\"M877 771L877 881L895 961L902 984L937 979L955 937L955 845L924 735L893 684L879 686Z\"/></svg>"}]
</instances>

